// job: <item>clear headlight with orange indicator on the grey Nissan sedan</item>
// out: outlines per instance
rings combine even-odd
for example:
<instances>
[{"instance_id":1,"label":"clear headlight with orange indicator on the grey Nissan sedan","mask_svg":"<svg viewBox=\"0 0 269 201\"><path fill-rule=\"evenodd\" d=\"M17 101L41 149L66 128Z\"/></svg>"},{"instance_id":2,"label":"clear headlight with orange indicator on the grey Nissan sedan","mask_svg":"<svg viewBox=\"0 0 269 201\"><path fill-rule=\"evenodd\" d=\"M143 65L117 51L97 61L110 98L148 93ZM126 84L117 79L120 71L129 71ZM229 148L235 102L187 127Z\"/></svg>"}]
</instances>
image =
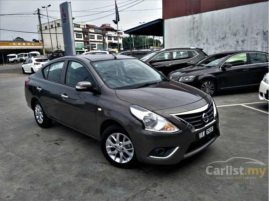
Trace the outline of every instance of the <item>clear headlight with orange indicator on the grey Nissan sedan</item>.
<instances>
[{"instance_id":1,"label":"clear headlight with orange indicator on the grey Nissan sedan","mask_svg":"<svg viewBox=\"0 0 269 201\"><path fill-rule=\"evenodd\" d=\"M180 130L165 118L140 106L130 105L129 111L147 131L172 133Z\"/></svg>"}]
</instances>

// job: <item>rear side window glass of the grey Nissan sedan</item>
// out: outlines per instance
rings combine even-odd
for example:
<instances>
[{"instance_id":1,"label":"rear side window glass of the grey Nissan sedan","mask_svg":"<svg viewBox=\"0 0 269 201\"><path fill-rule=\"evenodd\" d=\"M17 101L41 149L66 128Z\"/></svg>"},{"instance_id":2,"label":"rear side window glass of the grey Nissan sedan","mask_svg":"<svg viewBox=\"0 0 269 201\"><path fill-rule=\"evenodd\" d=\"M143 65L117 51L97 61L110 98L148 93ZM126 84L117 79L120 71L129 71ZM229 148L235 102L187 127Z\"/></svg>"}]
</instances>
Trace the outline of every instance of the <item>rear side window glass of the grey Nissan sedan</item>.
<instances>
[{"instance_id":1,"label":"rear side window glass of the grey Nissan sedan","mask_svg":"<svg viewBox=\"0 0 269 201\"><path fill-rule=\"evenodd\" d=\"M43 73L45 78L51 81L60 82L63 64L64 61L60 61L44 68Z\"/></svg>"}]
</instances>

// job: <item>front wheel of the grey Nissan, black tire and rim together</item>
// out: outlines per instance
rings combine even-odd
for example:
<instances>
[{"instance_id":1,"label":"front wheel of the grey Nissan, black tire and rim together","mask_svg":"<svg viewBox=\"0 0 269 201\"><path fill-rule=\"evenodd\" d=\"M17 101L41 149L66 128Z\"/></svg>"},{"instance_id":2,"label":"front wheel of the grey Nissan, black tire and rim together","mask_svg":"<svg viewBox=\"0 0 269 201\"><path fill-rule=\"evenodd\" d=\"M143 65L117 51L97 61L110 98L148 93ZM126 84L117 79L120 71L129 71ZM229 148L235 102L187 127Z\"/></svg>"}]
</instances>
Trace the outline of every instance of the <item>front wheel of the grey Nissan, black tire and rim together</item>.
<instances>
[{"instance_id":1,"label":"front wheel of the grey Nissan, black tire and rim together","mask_svg":"<svg viewBox=\"0 0 269 201\"><path fill-rule=\"evenodd\" d=\"M101 137L101 150L112 165L119 168L134 168L138 165L133 143L121 127L108 127Z\"/></svg>"}]
</instances>

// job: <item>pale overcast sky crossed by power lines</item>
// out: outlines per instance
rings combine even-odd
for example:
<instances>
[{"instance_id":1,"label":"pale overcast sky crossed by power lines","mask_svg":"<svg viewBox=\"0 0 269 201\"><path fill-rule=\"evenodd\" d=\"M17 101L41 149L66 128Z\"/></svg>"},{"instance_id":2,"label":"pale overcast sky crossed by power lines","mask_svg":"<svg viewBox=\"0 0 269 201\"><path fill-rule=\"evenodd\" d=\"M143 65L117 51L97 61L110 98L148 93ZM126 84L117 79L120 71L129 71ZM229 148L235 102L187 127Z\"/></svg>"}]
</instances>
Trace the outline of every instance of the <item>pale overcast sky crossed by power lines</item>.
<instances>
[{"instance_id":1,"label":"pale overcast sky crossed by power lines","mask_svg":"<svg viewBox=\"0 0 269 201\"><path fill-rule=\"evenodd\" d=\"M63 2L66 1L0 0L0 28L15 31L37 32L38 15L34 15L32 13L37 13L37 9L39 8L42 9L41 12L44 15L47 15L46 9L42 8L42 6L48 6L51 4L51 6L48 7L48 16L60 19L59 5ZM68 2L71 2L72 16L76 21L87 21L86 24L96 26L111 24L112 27L117 27L112 22L112 20L115 19L114 0L71 0ZM117 0L117 5L120 18L119 30L122 31L139 26L140 22L146 23L162 18L161 0ZM21 15L17 13L21 13ZM107 16L109 14L112 15ZM52 20L54 19L49 18L49 21ZM48 22L48 19L43 16L41 18L41 23L45 22ZM1 41L12 41L12 37L21 37L26 41L32 41L33 39L38 39L38 34L0 30Z\"/></svg>"}]
</instances>

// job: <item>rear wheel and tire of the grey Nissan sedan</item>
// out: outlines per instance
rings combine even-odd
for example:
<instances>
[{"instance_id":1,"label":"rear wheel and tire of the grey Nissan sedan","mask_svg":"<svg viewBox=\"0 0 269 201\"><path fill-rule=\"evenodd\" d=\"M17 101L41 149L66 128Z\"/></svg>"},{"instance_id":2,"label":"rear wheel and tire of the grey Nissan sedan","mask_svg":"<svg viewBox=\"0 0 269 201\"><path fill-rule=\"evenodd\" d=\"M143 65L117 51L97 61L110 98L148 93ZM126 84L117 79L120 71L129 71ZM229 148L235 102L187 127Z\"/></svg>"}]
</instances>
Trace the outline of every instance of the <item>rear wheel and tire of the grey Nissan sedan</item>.
<instances>
[{"instance_id":1,"label":"rear wheel and tire of the grey Nissan sedan","mask_svg":"<svg viewBox=\"0 0 269 201\"><path fill-rule=\"evenodd\" d=\"M34 103L34 118L38 124L38 126L42 128L48 128L51 126L52 119L50 119L45 113L44 110L39 103L39 101L36 101Z\"/></svg>"}]
</instances>

